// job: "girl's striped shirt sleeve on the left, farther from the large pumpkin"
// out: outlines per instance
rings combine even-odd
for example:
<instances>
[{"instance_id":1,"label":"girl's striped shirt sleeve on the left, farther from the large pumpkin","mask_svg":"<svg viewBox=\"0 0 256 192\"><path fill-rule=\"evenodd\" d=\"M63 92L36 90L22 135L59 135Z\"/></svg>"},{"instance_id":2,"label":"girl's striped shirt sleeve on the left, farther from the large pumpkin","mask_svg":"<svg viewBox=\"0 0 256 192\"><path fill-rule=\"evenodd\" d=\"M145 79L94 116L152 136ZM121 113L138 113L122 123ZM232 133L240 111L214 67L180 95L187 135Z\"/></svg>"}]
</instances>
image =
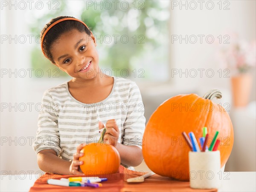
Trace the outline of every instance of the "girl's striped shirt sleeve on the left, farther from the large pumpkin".
<instances>
[{"instance_id":1,"label":"girl's striped shirt sleeve on the left, farther from the large pumpkin","mask_svg":"<svg viewBox=\"0 0 256 192\"><path fill-rule=\"evenodd\" d=\"M61 152L58 130L58 104L53 102L49 91L45 91L38 116L38 130L32 147L36 154L41 150L51 149L57 155Z\"/></svg>"}]
</instances>

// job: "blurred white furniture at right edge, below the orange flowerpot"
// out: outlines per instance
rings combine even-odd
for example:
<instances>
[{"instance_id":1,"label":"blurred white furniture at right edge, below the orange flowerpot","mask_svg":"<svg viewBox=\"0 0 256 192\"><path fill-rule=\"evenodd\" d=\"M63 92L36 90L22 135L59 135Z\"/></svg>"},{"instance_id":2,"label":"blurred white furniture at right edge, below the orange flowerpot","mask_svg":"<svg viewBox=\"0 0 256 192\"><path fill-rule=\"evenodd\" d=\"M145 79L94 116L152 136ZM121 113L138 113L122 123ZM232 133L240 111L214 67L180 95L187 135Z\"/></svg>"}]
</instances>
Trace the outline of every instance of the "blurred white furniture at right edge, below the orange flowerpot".
<instances>
[{"instance_id":1,"label":"blurred white furniture at right edge, below the orange flowerpot","mask_svg":"<svg viewBox=\"0 0 256 192\"><path fill-rule=\"evenodd\" d=\"M244 108L230 110L234 128L234 145L225 169L227 171L256 171L256 102ZM246 150L250 146L250 150Z\"/></svg>"}]
</instances>

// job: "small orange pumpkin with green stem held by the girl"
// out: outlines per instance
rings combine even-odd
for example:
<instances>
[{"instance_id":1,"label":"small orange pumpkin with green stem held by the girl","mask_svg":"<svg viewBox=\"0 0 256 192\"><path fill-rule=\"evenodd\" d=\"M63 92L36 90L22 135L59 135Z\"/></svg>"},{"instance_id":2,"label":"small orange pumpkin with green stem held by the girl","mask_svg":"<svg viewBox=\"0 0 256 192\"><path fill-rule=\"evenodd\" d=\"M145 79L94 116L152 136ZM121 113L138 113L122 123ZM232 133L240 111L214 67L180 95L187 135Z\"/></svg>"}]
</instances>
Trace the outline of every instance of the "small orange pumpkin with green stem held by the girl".
<instances>
[{"instance_id":1,"label":"small orange pumpkin with green stem held by the girl","mask_svg":"<svg viewBox=\"0 0 256 192\"><path fill-rule=\"evenodd\" d=\"M81 150L84 155L79 161L84 161L84 164L80 165L80 169L85 175L110 174L119 169L121 162L119 152L112 145L103 143L105 132L106 129L102 132L98 143L90 143Z\"/></svg>"}]
</instances>

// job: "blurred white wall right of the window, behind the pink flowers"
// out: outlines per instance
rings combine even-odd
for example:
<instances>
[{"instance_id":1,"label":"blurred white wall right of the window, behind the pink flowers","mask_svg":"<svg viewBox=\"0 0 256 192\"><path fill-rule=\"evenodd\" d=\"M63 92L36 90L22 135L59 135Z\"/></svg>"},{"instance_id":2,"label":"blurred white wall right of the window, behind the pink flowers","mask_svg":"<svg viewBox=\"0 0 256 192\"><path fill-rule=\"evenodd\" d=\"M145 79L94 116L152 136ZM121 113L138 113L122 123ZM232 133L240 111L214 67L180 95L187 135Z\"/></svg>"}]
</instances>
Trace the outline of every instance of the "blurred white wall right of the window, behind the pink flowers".
<instances>
[{"instance_id":1,"label":"blurred white wall right of the window, behind the pink flowers","mask_svg":"<svg viewBox=\"0 0 256 192\"><path fill-rule=\"evenodd\" d=\"M227 7L230 10L223 10L224 5L219 10L219 5L217 4L219 1L213 2L214 8L212 10L206 8L206 3L203 4L202 10L200 10L199 3L197 3L198 8L195 10L189 9L189 7L186 10L184 6L182 10L178 6L171 7L171 36L182 35L182 37L185 37L185 35L188 35L189 37L191 35L205 35L206 37L207 35L212 35L215 39L212 44L207 43L205 37L203 37L202 44L199 41L199 37L198 42L195 44L189 42L186 44L184 40L181 44L179 41L171 42L172 68L181 69L182 71L185 71L185 69L195 69L196 71L198 69L204 69L205 71L212 69L214 71L215 75L212 78L207 77L204 72L201 78L199 71L195 78L186 78L184 75L180 78L178 75L174 75L173 81L175 84L195 87L202 94L211 88L230 90L230 78L223 78L224 74L219 78L218 69L221 66L218 63L218 59L216 59L216 54L221 45L218 42L218 36L222 35L223 37L224 35L237 33L239 37L248 41L255 40L256 38L255 1L227 1L230 3ZM193 4L190 7L193 8ZM210 8L210 4L208 4L208 8ZM231 37L229 42L232 41ZM255 82L253 87L251 100L255 100Z\"/></svg>"}]
</instances>

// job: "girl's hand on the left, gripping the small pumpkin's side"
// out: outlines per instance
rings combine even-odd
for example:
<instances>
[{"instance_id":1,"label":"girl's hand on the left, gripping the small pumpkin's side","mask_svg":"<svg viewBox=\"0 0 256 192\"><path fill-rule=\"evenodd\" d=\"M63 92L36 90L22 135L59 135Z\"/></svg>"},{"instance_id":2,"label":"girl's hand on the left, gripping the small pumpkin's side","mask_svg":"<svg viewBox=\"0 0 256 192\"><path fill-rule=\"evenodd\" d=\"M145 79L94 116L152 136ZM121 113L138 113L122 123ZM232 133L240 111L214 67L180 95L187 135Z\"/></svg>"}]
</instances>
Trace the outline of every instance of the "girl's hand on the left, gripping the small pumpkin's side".
<instances>
[{"instance_id":1,"label":"girl's hand on the left, gripping the small pumpkin's side","mask_svg":"<svg viewBox=\"0 0 256 192\"><path fill-rule=\"evenodd\" d=\"M80 151L82 150L82 148L85 146L86 144L80 144L77 148L76 148L76 153L74 153L73 155L73 161L70 165L70 175L84 175L84 173L79 172L79 165L84 164L83 161L79 161L79 157L83 156L84 153L81 153Z\"/></svg>"}]
</instances>

